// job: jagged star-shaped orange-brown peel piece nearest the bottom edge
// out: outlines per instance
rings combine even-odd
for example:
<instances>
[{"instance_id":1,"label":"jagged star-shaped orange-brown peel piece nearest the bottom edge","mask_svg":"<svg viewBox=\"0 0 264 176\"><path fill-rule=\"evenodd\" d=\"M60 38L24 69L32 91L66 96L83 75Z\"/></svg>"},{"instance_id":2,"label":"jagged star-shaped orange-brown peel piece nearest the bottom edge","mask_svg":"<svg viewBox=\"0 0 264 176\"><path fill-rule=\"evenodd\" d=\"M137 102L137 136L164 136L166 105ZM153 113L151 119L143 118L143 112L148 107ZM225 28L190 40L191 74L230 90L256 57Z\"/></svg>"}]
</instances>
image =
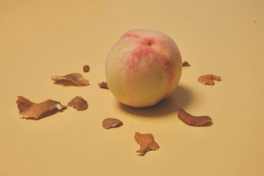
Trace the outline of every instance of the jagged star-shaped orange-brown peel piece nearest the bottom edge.
<instances>
[{"instance_id":1,"label":"jagged star-shaped orange-brown peel piece nearest the bottom edge","mask_svg":"<svg viewBox=\"0 0 264 176\"><path fill-rule=\"evenodd\" d=\"M139 153L138 155L144 156L149 150L159 149L159 146L154 141L154 137L151 133L140 134L138 132L135 132L134 139L139 144L139 150L136 151L137 153Z\"/></svg>"}]
</instances>

